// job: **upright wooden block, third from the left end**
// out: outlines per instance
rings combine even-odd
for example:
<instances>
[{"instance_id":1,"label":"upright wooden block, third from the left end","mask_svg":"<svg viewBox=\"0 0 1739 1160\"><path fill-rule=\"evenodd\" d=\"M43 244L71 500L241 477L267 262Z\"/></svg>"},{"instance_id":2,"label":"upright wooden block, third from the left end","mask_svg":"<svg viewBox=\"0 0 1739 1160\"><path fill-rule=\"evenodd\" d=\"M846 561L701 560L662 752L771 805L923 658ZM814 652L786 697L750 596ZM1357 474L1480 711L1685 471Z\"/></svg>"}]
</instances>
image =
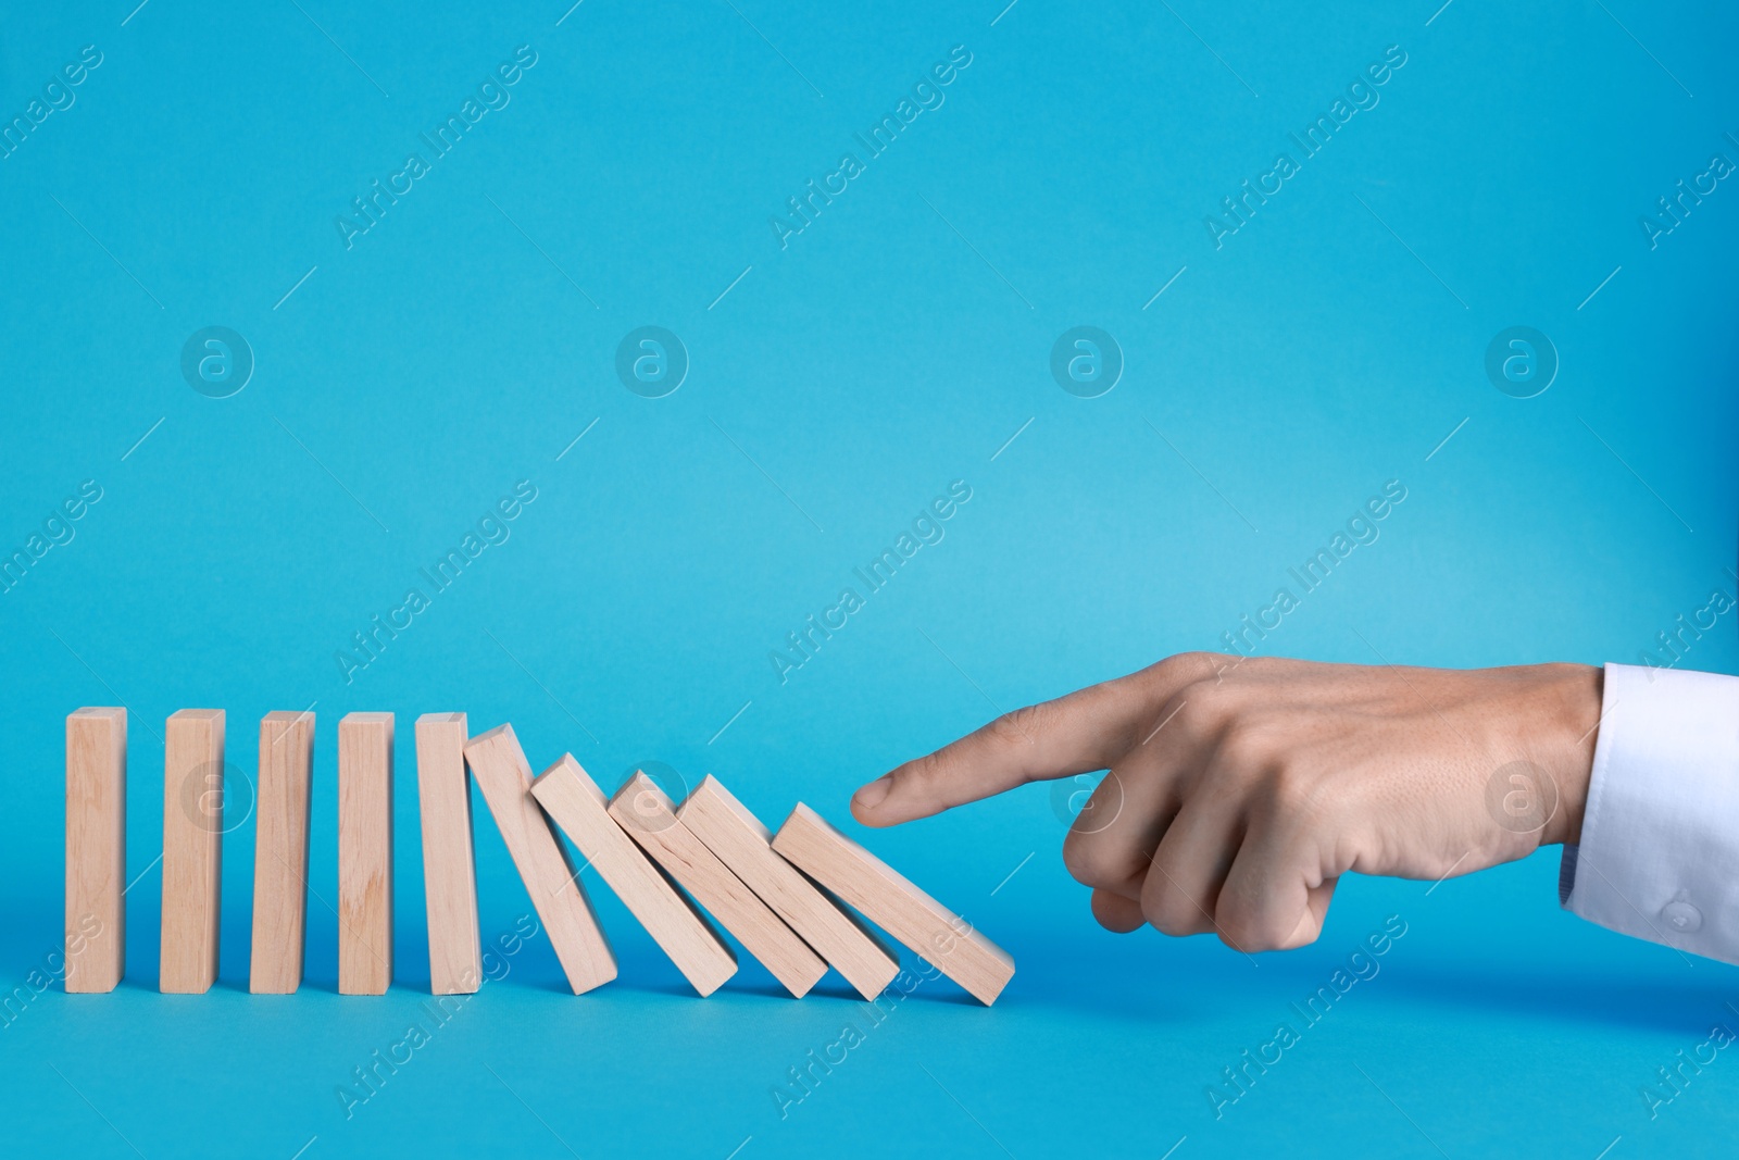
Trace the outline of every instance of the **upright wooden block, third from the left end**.
<instances>
[{"instance_id":1,"label":"upright wooden block, third from the left end","mask_svg":"<svg viewBox=\"0 0 1739 1160\"><path fill-rule=\"evenodd\" d=\"M254 995L290 995L303 984L313 757L313 713L277 711L259 720L254 951L247 972Z\"/></svg>"}]
</instances>

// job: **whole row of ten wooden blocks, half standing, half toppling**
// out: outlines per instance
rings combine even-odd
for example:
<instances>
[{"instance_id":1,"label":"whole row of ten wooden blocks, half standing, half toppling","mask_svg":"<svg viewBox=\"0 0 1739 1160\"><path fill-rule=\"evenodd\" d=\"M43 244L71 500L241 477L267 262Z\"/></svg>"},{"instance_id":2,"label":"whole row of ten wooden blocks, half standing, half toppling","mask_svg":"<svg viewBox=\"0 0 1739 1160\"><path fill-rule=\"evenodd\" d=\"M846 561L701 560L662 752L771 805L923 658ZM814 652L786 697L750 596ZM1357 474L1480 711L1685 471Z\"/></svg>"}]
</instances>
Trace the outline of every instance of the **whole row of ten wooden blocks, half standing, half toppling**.
<instances>
[{"instance_id":1,"label":"whole row of ten wooden blocks, half standing, half toppling","mask_svg":"<svg viewBox=\"0 0 1739 1160\"><path fill-rule=\"evenodd\" d=\"M256 995L303 981L313 734L313 713L259 722ZM703 997L737 970L713 920L795 997L830 965L864 998L892 983L899 958L863 918L986 1005L1014 976L1002 948L802 802L772 833L711 776L682 803L638 770L605 795L570 753L534 779L511 725L471 737L464 713L419 717L416 757L435 995L476 991L483 976L471 779L576 995L614 979L616 955L556 828ZM393 981L393 715L346 715L337 765L337 990L381 995ZM223 770L223 710L174 713L163 732L163 993L203 993L217 979ZM111 991L125 969L125 817L127 711L78 710L66 718L68 991Z\"/></svg>"}]
</instances>

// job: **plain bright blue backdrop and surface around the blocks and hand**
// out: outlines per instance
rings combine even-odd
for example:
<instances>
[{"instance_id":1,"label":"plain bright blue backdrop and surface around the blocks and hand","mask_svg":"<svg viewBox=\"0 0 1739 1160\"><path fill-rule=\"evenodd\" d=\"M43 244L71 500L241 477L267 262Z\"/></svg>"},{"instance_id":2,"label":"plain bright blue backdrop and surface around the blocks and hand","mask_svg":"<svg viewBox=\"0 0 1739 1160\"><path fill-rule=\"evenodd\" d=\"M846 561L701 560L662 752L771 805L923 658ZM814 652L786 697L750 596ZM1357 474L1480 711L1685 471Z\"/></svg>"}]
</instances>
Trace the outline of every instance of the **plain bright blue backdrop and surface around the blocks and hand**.
<instances>
[{"instance_id":1,"label":"plain bright blue backdrop and surface around the blocks and hand","mask_svg":"<svg viewBox=\"0 0 1739 1160\"><path fill-rule=\"evenodd\" d=\"M1732 1052L1652 1120L1640 1089L1713 1024L1739 1028L1739 976L1560 913L1555 850L1436 887L1346 880L1316 946L1245 960L1099 930L1045 786L852 828L1019 974L989 1010L925 983L784 1118L774 1089L863 1009L836 977L779 998L753 963L696 1000L591 873L617 983L574 998L530 939L350 1118L336 1096L426 1019L417 713L511 720L539 767L572 750L614 783L664 762L769 819L802 798L849 823L857 783L998 710L1223 647L1388 480L1407 499L1381 537L1263 652L1636 663L1732 591L1739 188L1718 179L1652 249L1640 219L1711 155L1739 162L1739 21L1438 2L7 12L5 118L83 45L101 64L0 158L0 546L26 550L85 480L101 499L0 595L5 986L30 991L61 943L63 718L82 704L132 710L137 877L123 986L49 990L0 1028L7 1148L1188 1160L1730 1143ZM346 249L351 198L433 155L419 134L520 45L536 64L482 94L499 108ZM956 45L970 64L866 158L854 134ZM1289 134L1389 45L1405 64L1355 92L1377 103L1301 157ZM769 219L845 151L863 172L781 249ZM1216 249L1205 216L1278 151L1297 172ZM690 362L663 398L616 376L645 325ZM1099 398L1050 374L1080 325L1123 355ZM1515 325L1560 358L1534 398L1485 374ZM183 379L203 327L252 350L230 398ZM346 683L351 635L520 480L536 501L506 539ZM769 654L955 480L972 497L943 539L781 683ZM1685 664L1739 670L1734 626ZM242 793L254 722L310 703L327 901L337 718L398 713L400 984L339 998L336 920L313 901L303 991L247 995L249 821L224 849L221 984L157 995L163 717L228 710ZM494 937L529 901L482 810L478 857ZM1407 934L1381 972L1216 1120L1221 1070L1303 1026L1290 1003L1389 915Z\"/></svg>"}]
</instances>

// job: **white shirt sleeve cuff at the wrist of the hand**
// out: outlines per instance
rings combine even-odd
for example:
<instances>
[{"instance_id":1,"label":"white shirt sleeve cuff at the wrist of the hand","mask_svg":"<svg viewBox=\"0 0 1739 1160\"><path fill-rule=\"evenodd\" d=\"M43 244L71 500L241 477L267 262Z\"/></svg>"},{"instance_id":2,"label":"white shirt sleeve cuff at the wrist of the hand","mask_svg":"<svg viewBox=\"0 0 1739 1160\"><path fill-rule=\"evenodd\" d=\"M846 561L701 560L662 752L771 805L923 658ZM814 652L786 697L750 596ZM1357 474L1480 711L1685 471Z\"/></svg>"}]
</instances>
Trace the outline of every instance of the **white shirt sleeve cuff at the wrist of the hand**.
<instances>
[{"instance_id":1,"label":"white shirt sleeve cuff at the wrist of the hand","mask_svg":"<svg viewBox=\"0 0 1739 1160\"><path fill-rule=\"evenodd\" d=\"M1739 963L1739 677L1607 664L1558 901L1621 934Z\"/></svg>"}]
</instances>

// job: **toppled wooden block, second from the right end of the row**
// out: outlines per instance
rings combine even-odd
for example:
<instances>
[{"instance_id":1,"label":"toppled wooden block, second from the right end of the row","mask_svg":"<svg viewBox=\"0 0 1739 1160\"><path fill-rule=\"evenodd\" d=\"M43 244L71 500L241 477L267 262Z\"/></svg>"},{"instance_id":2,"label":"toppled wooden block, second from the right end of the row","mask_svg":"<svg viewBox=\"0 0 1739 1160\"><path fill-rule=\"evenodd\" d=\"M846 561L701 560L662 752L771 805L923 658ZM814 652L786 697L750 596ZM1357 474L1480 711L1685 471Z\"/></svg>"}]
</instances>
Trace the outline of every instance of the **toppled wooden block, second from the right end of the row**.
<instances>
[{"instance_id":1,"label":"toppled wooden block, second from the right end of the row","mask_svg":"<svg viewBox=\"0 0 1739 1160\"><path fill-rule=\"evenodd\" d=\"M772 849L772 833L713 776L676 810L689 830L864 998L899 974L899 957Z\"/></svg>"}]
</instances>

